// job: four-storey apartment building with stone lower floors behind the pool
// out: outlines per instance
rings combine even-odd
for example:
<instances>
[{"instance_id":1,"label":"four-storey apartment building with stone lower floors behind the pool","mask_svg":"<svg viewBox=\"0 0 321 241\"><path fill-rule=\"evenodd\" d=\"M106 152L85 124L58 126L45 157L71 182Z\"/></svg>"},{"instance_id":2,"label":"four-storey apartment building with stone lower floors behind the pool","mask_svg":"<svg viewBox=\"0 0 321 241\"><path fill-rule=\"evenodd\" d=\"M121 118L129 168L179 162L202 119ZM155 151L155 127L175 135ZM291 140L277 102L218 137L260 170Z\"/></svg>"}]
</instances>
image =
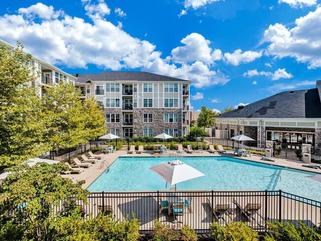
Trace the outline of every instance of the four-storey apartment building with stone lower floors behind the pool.
<instances>
[{"instance_id":1,"label":"four-storey apartment building with stone lower floors behind the pool","mask_svg":"<svg viewBox=\"0 0 321 241\"><path fill-rule=\"evenodd\" d=\"M95 97L110 133L149 137L189 133L190 84L148 72L76 74L81 99Z\"/></svg>"}]
</instances>

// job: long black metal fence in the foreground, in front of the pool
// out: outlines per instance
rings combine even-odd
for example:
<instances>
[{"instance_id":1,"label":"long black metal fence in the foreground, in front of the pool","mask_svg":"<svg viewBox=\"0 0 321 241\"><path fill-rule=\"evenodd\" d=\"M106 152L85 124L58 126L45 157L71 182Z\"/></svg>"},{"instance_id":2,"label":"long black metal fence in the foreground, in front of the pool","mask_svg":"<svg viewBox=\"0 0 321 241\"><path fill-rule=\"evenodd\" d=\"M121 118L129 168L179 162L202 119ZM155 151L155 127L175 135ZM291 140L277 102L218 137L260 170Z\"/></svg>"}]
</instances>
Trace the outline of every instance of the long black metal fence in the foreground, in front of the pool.
<instances>
[{"instance_id":1,"label":"long black metal fence in the foreground, in front of the pool","mask_svg":"<svg viewBox=\"0 0 321 241\"><path fill-rule=\"evenodd\" d=\"M63 202L61 202L62 205ZM181 192L100 192L92 193L87 203L79 201L82 217L90 219L99 213L112 214L120 222L128 215L141 222L140 231L150 233L153 221L165 225L184 223L198 233L208 233L210 224L224 226L243 221L253 229L265 232L267 221L302 220L310 227L320 226L321 202L280 191L181 191ZM62 210L62 206L55 210Z\"/></svg>"}]
</instances>

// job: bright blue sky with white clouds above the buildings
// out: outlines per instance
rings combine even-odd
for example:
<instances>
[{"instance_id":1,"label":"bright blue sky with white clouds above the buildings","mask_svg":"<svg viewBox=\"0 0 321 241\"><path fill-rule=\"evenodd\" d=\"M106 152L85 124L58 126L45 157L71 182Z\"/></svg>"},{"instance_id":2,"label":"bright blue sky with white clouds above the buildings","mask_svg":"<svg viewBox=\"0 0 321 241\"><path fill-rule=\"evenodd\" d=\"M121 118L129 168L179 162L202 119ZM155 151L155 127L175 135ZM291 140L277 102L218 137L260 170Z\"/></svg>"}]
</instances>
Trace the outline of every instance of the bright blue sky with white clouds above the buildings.
<instances>
[{"instance_id":1,"label":"bright blue sky with white clouds above the buildings","mask_svg":"<svg viewBox=\"0 0 321 241\"><path fill-rule=\"evenodd\" d=\"M222 110L321 79L318 0L2 1L0 39L68 73L148 71L193 81Z\"/></svg>"}]
</instances>

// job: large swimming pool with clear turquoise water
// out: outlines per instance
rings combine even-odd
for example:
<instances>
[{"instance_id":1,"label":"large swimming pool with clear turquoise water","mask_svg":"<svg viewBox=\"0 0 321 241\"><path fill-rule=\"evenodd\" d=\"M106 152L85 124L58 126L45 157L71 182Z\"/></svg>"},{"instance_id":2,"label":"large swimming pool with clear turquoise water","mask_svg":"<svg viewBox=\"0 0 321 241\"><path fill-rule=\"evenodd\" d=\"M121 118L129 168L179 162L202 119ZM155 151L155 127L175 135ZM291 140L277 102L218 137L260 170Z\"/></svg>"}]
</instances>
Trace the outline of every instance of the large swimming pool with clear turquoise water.
<instances>
[{"instance_id":1,"label":"large swimming pool with clear turquoise water","mask_svg":"<svg viewBox=\"0 0 321 241\"><path fill-rule=\"evenodd\" d=\"M88 188L98 191L169 190L169 185L150 167L173 157L118 158ZM179 157L205 176L177 184L178 190L282 190L321 201L321 184L306 176L312 172L244 161L229 157Z\"/></svg>"}]
</instances>

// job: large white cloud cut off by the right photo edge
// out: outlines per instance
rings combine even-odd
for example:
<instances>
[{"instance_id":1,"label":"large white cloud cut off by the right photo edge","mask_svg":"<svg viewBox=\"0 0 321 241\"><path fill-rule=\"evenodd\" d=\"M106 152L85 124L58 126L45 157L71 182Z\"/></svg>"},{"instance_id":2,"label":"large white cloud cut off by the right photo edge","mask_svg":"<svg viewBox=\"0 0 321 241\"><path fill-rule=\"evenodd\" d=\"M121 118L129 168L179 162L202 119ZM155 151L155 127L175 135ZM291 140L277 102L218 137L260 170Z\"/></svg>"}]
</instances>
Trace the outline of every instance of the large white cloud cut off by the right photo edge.
<instances>
[{"instance_id":1,"label":"large white cloud cut off by the right photo edge","mask_svg":"<svg viewBox=\"0 0 321 241\"><path fill-rule=\"evenodd\" d=\"M278 58L292 57L307 63L309 69L321 67L321 7L295 20L293 28L270 25L263 41L269 42L266 54Z\"/></svg>"}]
</instances>

